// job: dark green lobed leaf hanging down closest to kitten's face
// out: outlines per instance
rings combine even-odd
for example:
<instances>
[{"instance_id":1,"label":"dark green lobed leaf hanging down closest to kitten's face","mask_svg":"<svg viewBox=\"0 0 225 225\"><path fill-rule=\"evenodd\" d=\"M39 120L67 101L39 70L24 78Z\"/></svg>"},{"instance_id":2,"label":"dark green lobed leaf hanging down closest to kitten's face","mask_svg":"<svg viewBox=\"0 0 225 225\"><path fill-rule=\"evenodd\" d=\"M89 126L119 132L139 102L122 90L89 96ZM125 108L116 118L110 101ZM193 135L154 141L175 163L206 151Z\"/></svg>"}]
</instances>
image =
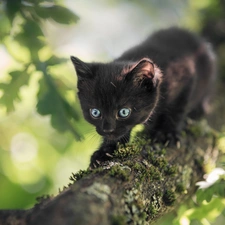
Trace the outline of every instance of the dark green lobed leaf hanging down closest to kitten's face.
<instances>
[{"instance_id":1,"label":"dark green lobed leaf hanging down closest to kitten's face","mask_svg":"<svg viewBox=\"0 0 225 225\"><path fill-rule=\"evenodd\" d=\"M61 97L57 91L53 79L45 74L45 85L42 82L42 88L38 94L37 111L41 115L51 115L52 126L61 131L70 131L76 139L81 139L74 120L79 120L79 113Z\"/></svg>"}]
</instances>

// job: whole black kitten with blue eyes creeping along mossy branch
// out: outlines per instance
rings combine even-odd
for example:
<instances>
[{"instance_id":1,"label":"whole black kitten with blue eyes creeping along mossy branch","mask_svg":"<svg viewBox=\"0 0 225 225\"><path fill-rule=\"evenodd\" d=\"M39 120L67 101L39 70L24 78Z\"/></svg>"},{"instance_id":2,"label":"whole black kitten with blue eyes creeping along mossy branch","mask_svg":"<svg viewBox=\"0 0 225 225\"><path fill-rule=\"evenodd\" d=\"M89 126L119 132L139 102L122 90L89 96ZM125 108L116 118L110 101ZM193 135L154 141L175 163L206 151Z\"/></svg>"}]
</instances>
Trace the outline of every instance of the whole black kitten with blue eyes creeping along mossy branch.
<instances>
[{"instance_id":1,"label":"whole black kitten with blue eyes creeping along mossy branch","mask_svg":"<svg viewBox=\"0 0 225 225\"><path fill-rule=\"evenodd\" d=\"M84 117L104 137L92 167L128 142L137 124L151 138L176 137L185 117L205 112L215 68L208 44L179 28L153 34L110 63L71 60Z\"/></svg>"}]
</instances>

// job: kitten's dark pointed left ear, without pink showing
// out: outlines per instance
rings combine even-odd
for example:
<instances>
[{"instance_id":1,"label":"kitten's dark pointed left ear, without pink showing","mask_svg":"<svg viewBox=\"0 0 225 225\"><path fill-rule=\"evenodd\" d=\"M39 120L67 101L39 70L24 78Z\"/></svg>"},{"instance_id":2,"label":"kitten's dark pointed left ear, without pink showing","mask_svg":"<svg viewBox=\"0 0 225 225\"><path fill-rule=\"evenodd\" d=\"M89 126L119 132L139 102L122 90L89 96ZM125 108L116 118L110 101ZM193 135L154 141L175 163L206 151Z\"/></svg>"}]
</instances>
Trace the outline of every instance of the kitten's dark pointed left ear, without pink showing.
<instances>
[{"instance_id":1,"label":"kitten's dark pointed left ear, without pink showing","mask_svg":"<svg viewBox=\"0 0 225 225\"><path fill-rule=\"evenodd\" d=\"M70 59L75 67L75 70L77 72L77 76L79 79L93 77L93 73L92 73L90 65L88 65L88 63L85 63L74 56L71 56Z\"/></svg>"}]
</instances>

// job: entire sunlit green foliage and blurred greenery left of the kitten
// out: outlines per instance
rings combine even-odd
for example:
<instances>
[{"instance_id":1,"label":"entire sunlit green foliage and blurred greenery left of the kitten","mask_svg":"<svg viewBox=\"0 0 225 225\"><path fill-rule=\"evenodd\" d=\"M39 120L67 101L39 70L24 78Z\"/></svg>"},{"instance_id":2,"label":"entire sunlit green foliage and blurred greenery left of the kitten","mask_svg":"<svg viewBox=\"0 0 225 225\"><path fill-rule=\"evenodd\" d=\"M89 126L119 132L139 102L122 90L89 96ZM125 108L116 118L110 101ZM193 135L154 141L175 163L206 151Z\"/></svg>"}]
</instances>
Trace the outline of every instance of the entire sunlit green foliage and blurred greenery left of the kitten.
<instances>
[{"instance_id":1,"label":"entire sunlit green foliage and blurred greenery left of the kitten","mask_svg":"<svg viewBox=\"0 0 225 225\"><path fill-rule=\"evenodd\" d=\"M49 22L78 21L63 1L0 1L0 43L12 59L0 77L0 208L26 208L56 193L98 145L74 141L92 128L81 117L68 60L45 35Z\"/></svg>"}]
</instances>

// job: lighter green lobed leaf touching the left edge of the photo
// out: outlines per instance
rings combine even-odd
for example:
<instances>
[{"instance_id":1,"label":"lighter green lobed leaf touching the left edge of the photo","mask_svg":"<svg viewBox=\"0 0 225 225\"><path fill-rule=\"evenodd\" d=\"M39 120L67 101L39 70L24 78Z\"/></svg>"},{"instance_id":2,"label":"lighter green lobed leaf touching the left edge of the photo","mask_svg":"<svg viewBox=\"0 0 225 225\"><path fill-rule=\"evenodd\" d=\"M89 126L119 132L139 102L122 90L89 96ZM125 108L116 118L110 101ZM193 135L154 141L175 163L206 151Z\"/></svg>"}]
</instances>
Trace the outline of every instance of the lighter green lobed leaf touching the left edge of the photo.
<instances>
[{"instance_id":1,"label":"lighter green lobed leaf touching the left edge of the photo","mask_svg":"<svg viewBox=\"0 0 225 225\"><path fill-rule=\"evenodd\" d=\"M27 85L29 74L26 71L12 71L9 73L11 81L9 83L1 83L0 89L3 95L0 98L0 104L6 106L7 112L15 109L15 101L20 101L19 90L22 86Z\"/></svg>"}]
</instances>

